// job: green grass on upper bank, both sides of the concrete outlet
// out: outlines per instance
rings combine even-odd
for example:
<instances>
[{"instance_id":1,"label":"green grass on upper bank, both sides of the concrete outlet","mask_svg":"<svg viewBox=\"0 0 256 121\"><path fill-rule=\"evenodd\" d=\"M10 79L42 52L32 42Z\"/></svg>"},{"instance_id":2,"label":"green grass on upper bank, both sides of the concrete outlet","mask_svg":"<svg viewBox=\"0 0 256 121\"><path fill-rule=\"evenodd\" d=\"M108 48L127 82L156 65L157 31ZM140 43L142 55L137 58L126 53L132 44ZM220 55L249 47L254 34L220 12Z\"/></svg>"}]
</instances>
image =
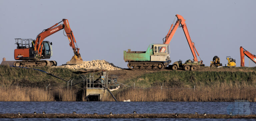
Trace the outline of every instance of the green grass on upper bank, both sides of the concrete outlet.
<instances>
[{"instance_id":1,"label":"green grass on upper bank, both sides of the concrete outlet","mask_svg":"<svg viewBox=\"0 0 256 121\"><path fill-rule=\"evenodd\" d=\"M78 72L57 67L35 67L46 72L49 72L55 76L63 78L65 80L73 80L73 84L80 82L89 77L98 78L100 72L87 73L80 75ZM226 68L223 68L226 69ZM234 71L232 70L252 70L252 71ZM130 79L124 82L124 84L136 87L149 88L154 86L167 87L193 87L194 85L214 85L216 83L234 83L234 82L248 82L255 85L256 83L256 68L244 68L237 67L230 69L231 71L159 71L154 73L147 73L137 78ZM83 78L82 78L82 77ZM51 87L67 86L67 83L57 79L53 76L47 75L38 70L31 68L19 68L0 66L0 86L20 85L26 87L45 87L51 84ZM70 84L70 83L69 83ZM82 84L77 85L81 87Z\"/></svg>"}]
</instances>

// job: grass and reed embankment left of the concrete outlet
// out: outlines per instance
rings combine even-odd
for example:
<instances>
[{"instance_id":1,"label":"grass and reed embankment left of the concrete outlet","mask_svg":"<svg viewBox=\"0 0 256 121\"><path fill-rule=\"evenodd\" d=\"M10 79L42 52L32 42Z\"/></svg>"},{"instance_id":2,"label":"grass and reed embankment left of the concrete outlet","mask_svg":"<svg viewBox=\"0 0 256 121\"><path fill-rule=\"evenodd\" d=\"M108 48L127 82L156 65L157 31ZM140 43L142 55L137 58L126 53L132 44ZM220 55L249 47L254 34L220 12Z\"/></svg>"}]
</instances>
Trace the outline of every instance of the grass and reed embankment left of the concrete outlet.
<instances>
[{"instance_id":1,"label":"grass and reed embankment left of the concrete outlet","mask_svg":"<svg viewBox=\"0 0 256 121\"><path fill-rule=\"evenodd\" d=\"M83 80L74 70L66 68L34 68L73 80L73 85ZM71 81L67 89L67 82L32 68L0 66L0 101L84 101L83 86L72 86L72 90L70 86Z\"/></svg>"}]
</instances>

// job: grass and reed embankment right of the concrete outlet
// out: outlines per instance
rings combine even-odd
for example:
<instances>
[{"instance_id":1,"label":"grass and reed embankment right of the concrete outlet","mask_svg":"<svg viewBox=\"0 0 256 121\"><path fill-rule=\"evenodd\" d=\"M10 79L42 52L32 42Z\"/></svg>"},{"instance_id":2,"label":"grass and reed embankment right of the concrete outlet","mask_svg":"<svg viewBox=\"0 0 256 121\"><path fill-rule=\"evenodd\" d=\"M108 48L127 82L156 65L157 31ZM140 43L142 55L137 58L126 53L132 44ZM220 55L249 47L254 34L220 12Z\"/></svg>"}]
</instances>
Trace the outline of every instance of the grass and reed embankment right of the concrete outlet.
<instances>
[{"instance_id":1,"label":"grass and reed embankment right of the concrete outlet","mask_svg":"<svg viewBox=\"0 0 256 121\"><path fill-rule=\"evenodd\" d=\"M127 88L114 92L119 101L256 101L255 71L156 72L144 74L126 84L135 84L135 88L139 89ZM103 100L114 101L110 96Z\"/></svg>"}]
</instances>

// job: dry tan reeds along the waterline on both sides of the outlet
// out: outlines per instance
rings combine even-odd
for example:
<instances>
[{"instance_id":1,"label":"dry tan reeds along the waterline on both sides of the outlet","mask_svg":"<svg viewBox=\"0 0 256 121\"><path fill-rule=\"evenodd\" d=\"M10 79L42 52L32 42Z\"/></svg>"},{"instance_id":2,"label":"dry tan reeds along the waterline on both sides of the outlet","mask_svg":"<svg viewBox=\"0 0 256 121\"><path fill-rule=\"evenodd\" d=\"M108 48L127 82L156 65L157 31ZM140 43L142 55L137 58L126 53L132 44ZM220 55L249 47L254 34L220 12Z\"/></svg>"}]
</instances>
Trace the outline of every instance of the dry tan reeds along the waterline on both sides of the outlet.
<instances>
[{"instance_id":1,"label":"dry tan reeds along the waterline on both sides of the outlet","mask_svg":"<svg viewBox=\"0 0 256 121\"><path fill-rule=\"evenodd\" d=\"M157 88L157 89L155 89ZM196 86L194 89L152 89L128 88L113 91L118 101L256 101L256 86L244 83L218 83L210 86ZM85 93L78 90L42 90L39 88L1 87L0 101L86 101ZM109 94L102 101L115 101Z\"/></svg>"}]
</instances>

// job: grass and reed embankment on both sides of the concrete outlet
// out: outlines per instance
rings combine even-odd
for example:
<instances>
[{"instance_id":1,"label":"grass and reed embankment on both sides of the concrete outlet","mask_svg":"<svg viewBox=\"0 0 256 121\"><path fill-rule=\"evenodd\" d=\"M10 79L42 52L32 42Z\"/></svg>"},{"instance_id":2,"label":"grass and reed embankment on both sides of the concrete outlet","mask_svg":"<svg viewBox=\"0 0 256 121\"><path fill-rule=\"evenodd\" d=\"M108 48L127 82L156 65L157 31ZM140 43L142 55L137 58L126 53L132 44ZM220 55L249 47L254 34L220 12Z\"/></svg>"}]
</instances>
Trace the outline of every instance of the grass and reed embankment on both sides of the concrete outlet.
<instances>
[{"instance_id":1,"label":"grass and reed embankment on both sides of the concrete outlet","mask_svg":"<svg viewBox=\"0 0 256 121\"><path fill-rule=\"evenodd\" d=\"M82 81L74 70L37 68L73 85ZM225 68L227 70L227 68ZM256 101L256 68L229 68L230 71L158 71L146 73L122 83L135 88L123 88L112 93L118 101ZM244 70L233 71L233 69ZM223 70L223 69L222 69ZM88 73L88 75L94 73ZM99 72L95 73L99 76ZM121 80L120 80L121 82ZM70 86L71 81L69 82ZM46 90L46 86L49 85ZM162 90L161 90L162 85ZM67 82L33 69L0 66L0 101L85 101L83 84L65 88ZM194 89L195 86L195 89ZM51 90L56 88L56 90ZM59 89L61 88L61 89ZM147 89L141 89L147 88ZM103 101L114 101L103 98Z\"/></svg>"}]
</instances>

